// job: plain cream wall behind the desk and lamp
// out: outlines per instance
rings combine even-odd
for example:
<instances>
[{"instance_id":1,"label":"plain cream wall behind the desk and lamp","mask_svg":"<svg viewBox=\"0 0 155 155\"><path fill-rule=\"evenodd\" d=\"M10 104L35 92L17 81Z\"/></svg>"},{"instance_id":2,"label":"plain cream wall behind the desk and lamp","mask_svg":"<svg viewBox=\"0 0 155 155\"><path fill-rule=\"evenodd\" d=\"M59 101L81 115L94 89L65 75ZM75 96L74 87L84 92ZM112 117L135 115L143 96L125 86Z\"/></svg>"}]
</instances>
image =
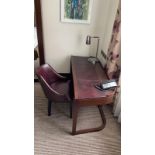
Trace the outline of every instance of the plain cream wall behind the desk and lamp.
<instances>
[{"instance_id":1,"label":"plain cream wall behind the desk and lamp","mask_svg":"<svg viewBox=\"0 0 155 155\"><path fill-rule=\"evenodd\" d=\"M45 62L59 73L68 73L71 55L95 54L96 41L91 46L85 44L88 34L101 37L100 50L106 53L118 1L94 0L91 23L71 24L60 21L60 0L41 0Z\"/></svg>"}]
</instances>

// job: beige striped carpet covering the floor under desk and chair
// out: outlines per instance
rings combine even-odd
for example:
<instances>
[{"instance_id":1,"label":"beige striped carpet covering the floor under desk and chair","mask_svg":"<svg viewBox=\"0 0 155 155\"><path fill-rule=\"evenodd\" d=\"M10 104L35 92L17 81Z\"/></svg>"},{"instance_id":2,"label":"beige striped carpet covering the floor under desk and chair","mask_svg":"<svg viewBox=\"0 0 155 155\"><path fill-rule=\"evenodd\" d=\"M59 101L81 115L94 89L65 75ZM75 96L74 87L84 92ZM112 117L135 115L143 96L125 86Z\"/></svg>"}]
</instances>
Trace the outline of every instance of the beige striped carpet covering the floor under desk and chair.
<instances>
[{"instance_id":1,"label":"beige striped carpet covering the floor under desk and chair","mask_svg":"<svg viewBox=\"0 0 155 155\"><path fill-rule=\"evenodd\" d=\"M94 133L72 136L69 104L52 105L47 116L47 99L39 83L34 85L34 153L35 155L120 155L121 127L112 115L111 106L103 106L106 127ZM78 129L95 127L101 123L96 107L80 109Z\"/></svg>"}]
</instances>

